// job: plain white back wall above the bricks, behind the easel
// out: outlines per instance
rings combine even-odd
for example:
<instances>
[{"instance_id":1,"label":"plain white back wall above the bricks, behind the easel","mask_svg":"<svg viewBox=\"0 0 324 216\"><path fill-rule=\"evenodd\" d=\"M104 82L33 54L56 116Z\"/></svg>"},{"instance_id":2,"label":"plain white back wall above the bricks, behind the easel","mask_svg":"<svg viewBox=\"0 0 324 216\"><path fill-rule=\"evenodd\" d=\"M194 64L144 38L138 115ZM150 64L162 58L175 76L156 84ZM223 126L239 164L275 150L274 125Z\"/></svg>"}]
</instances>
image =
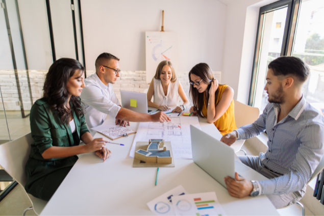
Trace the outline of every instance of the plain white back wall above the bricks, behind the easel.
<instances>
[{"instance_id":1,"label":"plain white back wall above the bricks, behind the easel","mask_svg":"<svg viewBox=\"0 0 324 216\"><path fill-rule=\"evenodd\" d=\"M215 0L82 0L86 66L94 70L96 57L111 53L120 58L122 70L146 70L145 31L178 34L179 71L208 63L222 67L226 6Z\"/></svg>"}]
</instances>

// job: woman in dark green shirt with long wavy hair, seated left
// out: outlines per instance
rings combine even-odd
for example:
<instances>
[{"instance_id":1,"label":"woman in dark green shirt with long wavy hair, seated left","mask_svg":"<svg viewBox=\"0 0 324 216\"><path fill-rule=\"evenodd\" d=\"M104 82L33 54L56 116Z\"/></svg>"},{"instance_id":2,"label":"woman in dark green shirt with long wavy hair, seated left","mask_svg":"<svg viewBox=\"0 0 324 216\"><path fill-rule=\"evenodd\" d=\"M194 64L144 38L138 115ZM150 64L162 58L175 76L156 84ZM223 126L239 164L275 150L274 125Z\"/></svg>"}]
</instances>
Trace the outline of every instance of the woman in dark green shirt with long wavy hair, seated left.
<instances>
[{"instance_id":1,"label":"woman in dark green shirt with long wavy hair, seated left","mask_svg":"<svg viewBox=\"0 0 324 216\"><path fill-rule=\"evenodd\" d=\"M86 126L80 94L84 67L74 59L62 58L49 68L44 95L32 106L31 153L25 172L27 193L49 200L60 186L78 154L95 152L104 161L111 152L107 140L93 139ZM86 145L79 146L80 140Z\"/></svg>"}]
</instances>

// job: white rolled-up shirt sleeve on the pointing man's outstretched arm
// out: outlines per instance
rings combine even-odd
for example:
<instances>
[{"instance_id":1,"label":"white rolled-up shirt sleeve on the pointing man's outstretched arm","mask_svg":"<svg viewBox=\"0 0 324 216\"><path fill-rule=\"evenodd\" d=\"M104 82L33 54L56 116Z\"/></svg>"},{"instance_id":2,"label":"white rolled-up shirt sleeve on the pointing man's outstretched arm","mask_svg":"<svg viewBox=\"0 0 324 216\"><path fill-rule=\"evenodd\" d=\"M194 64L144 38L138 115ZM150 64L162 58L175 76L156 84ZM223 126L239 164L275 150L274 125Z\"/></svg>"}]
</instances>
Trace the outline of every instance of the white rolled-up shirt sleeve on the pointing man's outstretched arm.
<instances>
[{"instance_id":1,"label":"white rolled-up shirt sleeve on the pointing man's outstretched arm","mask_svg":"<svg viewBox=\"0 0 324 216\"><path fill-rule=\"evenodd\" d=\"M114 97L116 98L115 93ZM106 98L102 90L96 85L90 84L87 85L86 88L83 88L80 98L81 101L86 105L91 106L100 112L108 114L113 118L116 118L117 113L120 110L120 107L118 106L118 99L116 98L118 104L115 104L112 100Z\"/></svg>"}]
</instances>

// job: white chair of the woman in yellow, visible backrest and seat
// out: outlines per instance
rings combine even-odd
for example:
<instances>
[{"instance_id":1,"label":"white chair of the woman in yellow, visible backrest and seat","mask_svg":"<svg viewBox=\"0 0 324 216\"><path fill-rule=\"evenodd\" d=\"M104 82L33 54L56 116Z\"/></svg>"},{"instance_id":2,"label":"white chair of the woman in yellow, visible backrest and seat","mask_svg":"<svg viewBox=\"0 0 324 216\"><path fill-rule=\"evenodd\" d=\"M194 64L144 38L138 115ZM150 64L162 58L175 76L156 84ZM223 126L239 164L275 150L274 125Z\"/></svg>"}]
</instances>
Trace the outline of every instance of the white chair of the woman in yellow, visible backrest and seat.
<instances>
[{"instance_id":1,"label":"white chair of the woman in yellow, visible backrest and seat","mask_svg":"<svg viewBox=\"0 0 324 216\"><path fill-rule=\"evenodd\" d=\"M254 123L258 119L259 114L259 108L251 107L234 100L234 115L237 128ZM246 155L246 152L241 149L244 141L245 139L240 139L232 144L231 148L234 149L234 152L243 151Z\"/></svg>"}]
</instances>

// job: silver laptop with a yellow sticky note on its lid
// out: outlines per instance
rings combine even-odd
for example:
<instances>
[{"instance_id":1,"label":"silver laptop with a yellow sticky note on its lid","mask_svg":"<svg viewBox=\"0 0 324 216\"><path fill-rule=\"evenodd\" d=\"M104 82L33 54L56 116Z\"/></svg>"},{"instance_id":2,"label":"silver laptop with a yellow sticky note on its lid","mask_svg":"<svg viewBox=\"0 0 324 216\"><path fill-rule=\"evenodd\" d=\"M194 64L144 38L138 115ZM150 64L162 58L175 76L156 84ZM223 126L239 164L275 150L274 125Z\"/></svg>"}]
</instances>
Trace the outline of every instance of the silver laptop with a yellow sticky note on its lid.
<instances>
[{"instance_id":1,"label":"silver laptop with a yellow sticky note on its lid","mask_svg":"<svg viewBox=\"0 0 324 216\"><path fill-rule=\"evenodd\" d=\"M122 108L130 109L135 112L149 113L147 109L146 93L120 90Z\"/></svg>"}]
</instances>

